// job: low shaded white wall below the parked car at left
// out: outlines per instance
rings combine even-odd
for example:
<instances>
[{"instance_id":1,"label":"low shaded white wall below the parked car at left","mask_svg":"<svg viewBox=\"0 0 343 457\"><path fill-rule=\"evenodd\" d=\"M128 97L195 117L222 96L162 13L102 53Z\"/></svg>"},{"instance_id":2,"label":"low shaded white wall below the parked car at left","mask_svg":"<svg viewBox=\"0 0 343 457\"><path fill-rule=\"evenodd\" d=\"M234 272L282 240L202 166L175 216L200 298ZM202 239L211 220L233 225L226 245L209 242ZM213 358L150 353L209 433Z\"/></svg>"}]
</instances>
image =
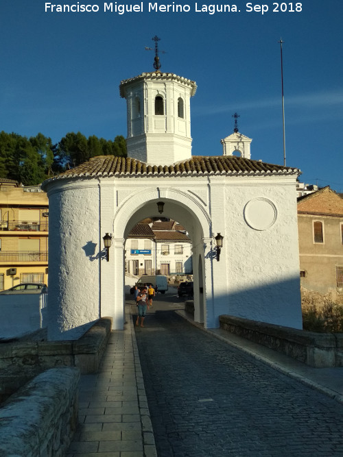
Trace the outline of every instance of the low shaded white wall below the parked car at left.
<instances>
[{"instance_id":1,"label":"low shaded white wall below the parked car at left","mask_svg":"<svg viewBox=\"0 0 343 457\"><path fill-rule=\"evenodd\" d=\"M47 294L0 295L0 338L14 338L47 326Z\"/></svg>"}]
</instances>

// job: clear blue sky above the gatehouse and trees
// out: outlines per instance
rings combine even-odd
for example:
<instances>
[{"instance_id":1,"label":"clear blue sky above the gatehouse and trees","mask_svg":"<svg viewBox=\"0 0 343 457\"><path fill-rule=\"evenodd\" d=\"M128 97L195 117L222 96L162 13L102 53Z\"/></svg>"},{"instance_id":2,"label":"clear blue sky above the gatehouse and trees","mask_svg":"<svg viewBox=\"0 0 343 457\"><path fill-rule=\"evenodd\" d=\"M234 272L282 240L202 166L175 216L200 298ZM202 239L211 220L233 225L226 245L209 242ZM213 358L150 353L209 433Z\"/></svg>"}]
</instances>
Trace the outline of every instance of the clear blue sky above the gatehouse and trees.
<instances>
[{"instance_id":1,"label":"clear blue sky above the gatehouse and trees","mask_svg":"<svg viewBox=\"0 0 343 457\"><path fill-rule=\"evenodd\" d=\"M240 10L215 14L196 12L193 1L174 1L190 12L149 12L143 1L143 12L122 15L104 12L103 1L58 2L99 5L99 12L51 13L42 0L1 0L0 130L42 132L54 143L67 132L126 136L119 83L153 70L145 46L154 47L158 35L166 51L161 71L198 84L193 154L221 155L220 139L233 132L238 112L252 159L283 164L282 37L287 165L303 171L303 182L343 192L342 0L305 0L300 12L289 11L298 2L283 3L285 12L273 12L276 2L266 0L197 2L198 9ZM268 12L247 12L247 3L268 5Z\"/></svg>"}]
</instances>

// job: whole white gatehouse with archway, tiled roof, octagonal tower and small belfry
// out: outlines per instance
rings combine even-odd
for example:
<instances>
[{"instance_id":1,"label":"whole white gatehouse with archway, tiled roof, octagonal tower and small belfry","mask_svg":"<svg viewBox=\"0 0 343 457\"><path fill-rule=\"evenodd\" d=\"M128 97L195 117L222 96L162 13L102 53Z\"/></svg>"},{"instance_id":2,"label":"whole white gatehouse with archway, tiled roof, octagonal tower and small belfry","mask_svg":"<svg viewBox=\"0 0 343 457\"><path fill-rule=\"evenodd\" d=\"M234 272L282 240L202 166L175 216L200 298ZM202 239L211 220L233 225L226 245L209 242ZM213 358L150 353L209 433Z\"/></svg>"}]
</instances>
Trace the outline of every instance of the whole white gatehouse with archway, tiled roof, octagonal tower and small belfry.
<instances>
[{"instance_id":1,"label":"whole white gatehouse with archway, tiled roof, octagonal tower and small belfry","mask_svg":"<svg viewBox=\"0 0 343 457\"><path fill-rule=\"evenodd\" d=\"M178 221L191 238L195 321L216 328L220 315L230 314L302 328L300 171L251 160L251 139L237 129L222 140L221 156L192 156L196 88L161 71L122 81L128 158L95 157L43 184L49 340L79 338L105 316L123 329L126 239L137 223L161 215ZM106 234L113 237L109 258ZM217 234L223 236L219 260Z\"/></svg>"}]
</instances>

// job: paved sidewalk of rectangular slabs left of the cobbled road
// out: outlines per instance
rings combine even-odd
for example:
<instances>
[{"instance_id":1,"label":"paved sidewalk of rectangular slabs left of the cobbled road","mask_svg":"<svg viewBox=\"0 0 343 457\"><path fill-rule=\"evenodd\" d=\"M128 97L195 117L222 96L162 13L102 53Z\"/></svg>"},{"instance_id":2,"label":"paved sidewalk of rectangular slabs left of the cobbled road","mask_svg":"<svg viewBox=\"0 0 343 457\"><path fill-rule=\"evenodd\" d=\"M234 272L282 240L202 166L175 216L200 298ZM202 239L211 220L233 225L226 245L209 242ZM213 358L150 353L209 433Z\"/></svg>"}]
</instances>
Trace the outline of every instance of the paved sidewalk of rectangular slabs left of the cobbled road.
<instances>
[{"instance_id":1,"label":"paved sidewalk of rectangular slabs left of the cobbled road","mask_svg":"<svg viewBox=\"0 0 343 457\"><path fill-rule=\"evenodd\" d=\"M156 456L130 308L124 330L110 335L99 373L81 376L79 425L67 457Z\"/></svg>"}]
</instances>

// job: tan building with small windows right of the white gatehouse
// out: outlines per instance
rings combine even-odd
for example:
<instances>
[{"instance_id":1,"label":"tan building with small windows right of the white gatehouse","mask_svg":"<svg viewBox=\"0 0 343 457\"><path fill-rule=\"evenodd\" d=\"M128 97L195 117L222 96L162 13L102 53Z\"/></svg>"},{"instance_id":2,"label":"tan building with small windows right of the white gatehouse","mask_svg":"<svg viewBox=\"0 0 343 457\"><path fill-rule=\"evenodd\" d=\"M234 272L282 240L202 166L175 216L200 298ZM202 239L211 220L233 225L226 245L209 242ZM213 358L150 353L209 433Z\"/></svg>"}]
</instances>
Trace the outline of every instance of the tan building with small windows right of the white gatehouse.
<instances>
[{"instance_id":1,"label":"tan building with small windows right of the white gatehouse","mask_svg":"<svg viewBox=\"0 0 343 457\"><path fill-rule=\"evenodd\" d=\"M343 199L329 187L298 199L300 280L343 299Z\"/></svg>"}]
</instances>

